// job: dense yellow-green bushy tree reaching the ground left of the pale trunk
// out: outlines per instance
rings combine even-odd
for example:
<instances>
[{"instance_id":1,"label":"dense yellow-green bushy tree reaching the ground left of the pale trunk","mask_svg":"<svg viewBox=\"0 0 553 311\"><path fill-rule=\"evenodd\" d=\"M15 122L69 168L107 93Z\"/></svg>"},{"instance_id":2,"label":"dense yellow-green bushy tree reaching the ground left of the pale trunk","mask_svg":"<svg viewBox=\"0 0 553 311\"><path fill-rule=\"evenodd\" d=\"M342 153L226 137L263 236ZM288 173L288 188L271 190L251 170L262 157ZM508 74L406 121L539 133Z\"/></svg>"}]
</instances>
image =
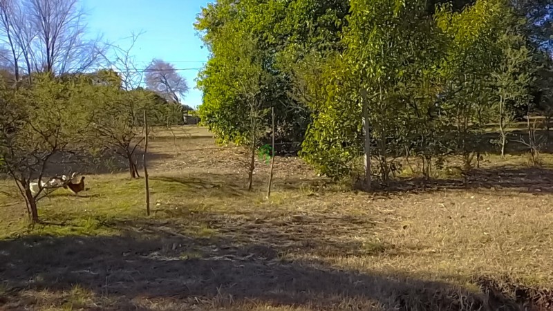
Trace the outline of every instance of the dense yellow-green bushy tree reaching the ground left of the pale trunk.
<instances>
[{"instance_id":1,"label":"dense yellow-green bushy tree reaching the ground left of the pale trunk","mask_svg":"<svg viewBox=\"0 0 553 311\"><path fill-rule=\"evenodd\" d=\"M300 156L331 178L356 178L355 159L363 152L359 97L342 82L347 66L341 55L328 57L320 70L307 85L313 120Z\"/></svg>"}]
</instances>

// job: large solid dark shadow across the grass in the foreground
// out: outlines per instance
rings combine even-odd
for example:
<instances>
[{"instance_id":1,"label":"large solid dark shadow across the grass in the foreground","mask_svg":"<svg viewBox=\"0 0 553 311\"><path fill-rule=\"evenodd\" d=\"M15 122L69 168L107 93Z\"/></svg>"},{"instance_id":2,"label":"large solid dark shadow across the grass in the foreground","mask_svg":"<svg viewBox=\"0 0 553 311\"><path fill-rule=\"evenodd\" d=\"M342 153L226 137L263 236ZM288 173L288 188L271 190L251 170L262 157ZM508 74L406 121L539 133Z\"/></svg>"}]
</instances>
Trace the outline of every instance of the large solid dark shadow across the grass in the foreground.
<instances>
[{"instance_id":1,"label":"large solid dark shadow across the grass in the foreground","mask_svg":"<svg viewBox=\"0 0 553 311\"><path fill-rule=\"evenodd\" d=\"M6 310L40 306L25 305L24 291L66 292L75 285L97 299L88 308L102 310L154 310L144 301L156 299L177 301L178 310L522 310L506 298L447 283L283 261L266 245L175 236L29 236L0 241L0 249ZM101 305L102 296L111 303Z\"/></svg>"}]
</instances>

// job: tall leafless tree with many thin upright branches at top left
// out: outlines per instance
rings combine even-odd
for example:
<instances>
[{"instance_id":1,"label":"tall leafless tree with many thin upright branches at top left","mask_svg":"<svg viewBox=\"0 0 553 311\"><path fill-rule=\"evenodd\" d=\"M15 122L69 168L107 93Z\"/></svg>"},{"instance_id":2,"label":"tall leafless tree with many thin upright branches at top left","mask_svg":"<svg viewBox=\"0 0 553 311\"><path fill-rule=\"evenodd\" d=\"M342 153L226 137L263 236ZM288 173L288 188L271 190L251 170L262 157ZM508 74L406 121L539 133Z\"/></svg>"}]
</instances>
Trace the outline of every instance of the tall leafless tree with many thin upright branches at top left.
<instances>
[{"instance_id":1,"label":"tall leafless tree with many thin upright branches at top left","mask_svg":"<svg viewBox=\"0 0 553 311\"><path fill-rule=\"evenodd\" d=\"M95 66L104 46L88 40L78 0L0 0L0 33L19 81L32 72L75 73Z\"/></svg>"}]
</instances>

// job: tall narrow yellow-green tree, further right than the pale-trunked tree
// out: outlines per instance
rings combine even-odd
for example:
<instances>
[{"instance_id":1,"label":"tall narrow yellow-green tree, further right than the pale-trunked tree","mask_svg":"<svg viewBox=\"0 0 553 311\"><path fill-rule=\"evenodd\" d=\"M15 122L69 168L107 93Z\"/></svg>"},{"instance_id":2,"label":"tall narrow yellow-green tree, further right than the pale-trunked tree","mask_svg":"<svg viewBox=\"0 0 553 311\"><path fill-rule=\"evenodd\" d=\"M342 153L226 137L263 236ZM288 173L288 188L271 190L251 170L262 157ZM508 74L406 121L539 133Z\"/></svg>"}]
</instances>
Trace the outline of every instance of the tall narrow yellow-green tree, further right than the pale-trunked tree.
<instances>
[{"instance_id":1,"label":"tall narrow yellow-green tree, further right than the pale-trunked tree","mask_svg":"<svg viewBox=\"0 0 553 311\"><path fill-rule=\"evenodd\" d=\"M471 169L482 131L490 121L485 116L491 117L489 111L494 109L489 80L500 59L496 41L502 12L500 3L476 1L462 12L442 6L436 15L447 47L440 66L444 79L441 108L445 122L454 129L463 170Z\"/></svg>"}]
</instances>

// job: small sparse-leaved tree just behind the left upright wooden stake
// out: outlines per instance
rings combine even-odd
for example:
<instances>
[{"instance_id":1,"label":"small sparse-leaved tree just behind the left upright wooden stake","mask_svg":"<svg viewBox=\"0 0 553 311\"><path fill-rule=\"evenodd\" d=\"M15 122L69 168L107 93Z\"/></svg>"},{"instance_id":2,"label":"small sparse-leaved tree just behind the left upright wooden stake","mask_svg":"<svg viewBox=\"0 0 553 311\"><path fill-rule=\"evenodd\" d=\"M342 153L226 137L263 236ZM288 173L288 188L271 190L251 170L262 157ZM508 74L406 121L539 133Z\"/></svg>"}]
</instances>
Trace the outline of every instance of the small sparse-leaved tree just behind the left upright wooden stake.
<instances>
[{"instance_id":1,"label":"small sparse-leaved tree just behind the left upright wooden stake","mask_svg":"<svg viewBox=\"0 0 553 311\"><path fill-rule=\"evenodd\" d=\"M175 120L176 112L152 91L143 88L127 91L114 70L67 77L66 82L79 84L73 97L88 111L86 137L92 149L99 154L116 153L128 163L131 178L140 177L136 151L144 140L141 128L144 109L149 120L161 124Z\"/></svg>"}]
</instances>

